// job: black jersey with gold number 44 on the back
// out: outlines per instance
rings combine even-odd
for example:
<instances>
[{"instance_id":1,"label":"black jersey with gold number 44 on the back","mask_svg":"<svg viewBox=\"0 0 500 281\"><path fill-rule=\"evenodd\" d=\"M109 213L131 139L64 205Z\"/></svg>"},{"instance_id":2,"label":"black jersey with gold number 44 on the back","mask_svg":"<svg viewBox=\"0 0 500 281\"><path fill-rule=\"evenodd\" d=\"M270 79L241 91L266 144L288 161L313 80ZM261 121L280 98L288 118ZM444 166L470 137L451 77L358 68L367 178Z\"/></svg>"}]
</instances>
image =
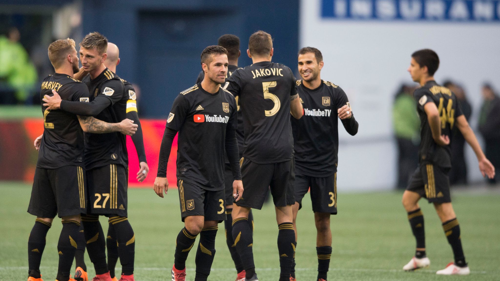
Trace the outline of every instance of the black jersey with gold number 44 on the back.
<instances>
[{"instance_id":1,"label":"black jersey with gold number 44 on the back","mask_svg":"<svg viewBox=\"0 0 500 281\"><path fill-rule=\"evenodd\" d=\"M418 151L420 162L431 162L442 167L451 167L451 151L449 145L439 146L432 138L427 114L423 109L428 102L434 102L439 111L441 134L450 137L456 117L462 115L462 110L451 90L438 85L435 81L428 81L413 92L417 102L416 109L420 117L420 148Z\"/></svg>"}]
</instances>

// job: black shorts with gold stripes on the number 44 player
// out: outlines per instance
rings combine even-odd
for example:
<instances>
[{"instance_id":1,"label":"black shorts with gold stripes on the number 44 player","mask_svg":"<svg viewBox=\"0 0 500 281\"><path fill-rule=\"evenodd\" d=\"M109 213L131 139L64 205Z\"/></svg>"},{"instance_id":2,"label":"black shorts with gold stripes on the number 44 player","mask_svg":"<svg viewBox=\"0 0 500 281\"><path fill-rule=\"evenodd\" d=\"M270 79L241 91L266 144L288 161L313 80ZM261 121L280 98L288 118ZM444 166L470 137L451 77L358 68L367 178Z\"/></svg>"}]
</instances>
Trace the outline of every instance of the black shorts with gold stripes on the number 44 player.
<instances>
[{"instance_id":1,"label":"black shorts with gold stripes on the number 44 player","mask_svg":"<svg viewBox=\"0 0 500 281\"><path fill-rule=\"evenodd\" d=\"M420 163L411 175L406 190L427 198L429 203L451 202L448 172L449 168Z\"/></svg>"}]
</instances>

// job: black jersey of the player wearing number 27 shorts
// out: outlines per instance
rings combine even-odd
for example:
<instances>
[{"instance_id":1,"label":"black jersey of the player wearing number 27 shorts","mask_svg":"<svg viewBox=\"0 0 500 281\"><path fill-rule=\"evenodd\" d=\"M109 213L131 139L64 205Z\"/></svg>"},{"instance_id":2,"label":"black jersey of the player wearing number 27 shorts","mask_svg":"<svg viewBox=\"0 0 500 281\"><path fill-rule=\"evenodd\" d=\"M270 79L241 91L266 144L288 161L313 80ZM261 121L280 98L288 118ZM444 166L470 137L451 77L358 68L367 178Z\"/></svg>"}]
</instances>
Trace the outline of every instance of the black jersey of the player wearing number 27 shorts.
<instances>
[{"instance_id":1,"label":"black jersey of the player wearing number 27 shorts","mask_svg":"<svg viewBox=\"0 0 500 281\"><path fill-rule=\"evenodd\" d=\"M116 74L105 68L94 79L86 75L83 82L90 92L90 101L97 95L103 95L111 101L109 106L94 116L96 119L108 123L125 119L128 95ZM128 165L125 135L120 132L85 133L85 167L91 169L108 164Z\"/></svg>"}]
</instances>

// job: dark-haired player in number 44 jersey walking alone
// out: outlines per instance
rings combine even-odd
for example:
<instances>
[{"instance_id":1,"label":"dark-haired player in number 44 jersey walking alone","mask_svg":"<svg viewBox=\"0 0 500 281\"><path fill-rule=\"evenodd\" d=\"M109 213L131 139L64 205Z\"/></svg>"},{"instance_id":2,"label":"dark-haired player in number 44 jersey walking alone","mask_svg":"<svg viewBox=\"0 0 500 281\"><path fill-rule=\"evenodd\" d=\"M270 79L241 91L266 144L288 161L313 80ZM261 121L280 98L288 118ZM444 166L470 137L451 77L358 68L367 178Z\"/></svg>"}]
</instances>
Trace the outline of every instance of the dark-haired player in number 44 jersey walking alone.
<instances>
[{"instance_id":1,"label":"dark-haired player in number 44 jersey walking alone","mask_svg":"<svg viewBox=\"0 0 500 281\"><path fill-rule=\"evenodd\" d=\"M415 255L403 266L414 270L430 265L425 255L425 233L423 214L418 205L421 197L427 198L442 222L444 234L453 250L454 262L436 274L466 275L470 270L465 262L460 239L460 225L451 205L448 171L450 161L450 132L458 126L467 143L472 147L479 162L482 175L494 176L494 167L482 153L481 147L463 116L456 96L448 88L434 81L434 72L439 66L439 57L431 49L421 49L411 54L408 72L420 88L413 92L420 117L419 165L411 176L403 193L402 204L408 213L411 231L416 239Z\"/></svg>"}]
</instances>

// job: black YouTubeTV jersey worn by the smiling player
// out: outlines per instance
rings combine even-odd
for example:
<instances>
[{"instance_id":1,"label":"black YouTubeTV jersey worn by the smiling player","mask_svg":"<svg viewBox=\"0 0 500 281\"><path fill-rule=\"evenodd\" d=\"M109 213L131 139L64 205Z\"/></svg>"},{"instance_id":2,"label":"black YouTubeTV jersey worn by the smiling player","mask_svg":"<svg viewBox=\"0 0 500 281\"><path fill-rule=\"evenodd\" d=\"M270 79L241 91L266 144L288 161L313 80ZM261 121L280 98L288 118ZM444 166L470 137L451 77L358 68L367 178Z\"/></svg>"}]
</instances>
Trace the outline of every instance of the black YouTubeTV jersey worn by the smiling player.
<instances>
[{"instance_id":1,"label":"black YouTubeTV jersey worn by the smiling player","mask_svg":"<svg viewBox=\"0 0 500 281\"><path fill-rule=\"evenodd\" d=\"M295 173L325 177L337 171L337 109L348 104L345 92L337 85L321 80L309 89L297 80L297 91L304 115L290 118L295 150ZM352 115L341 120L345 130L354 135L358 124Z\"/></svg>"}]
</instances>

